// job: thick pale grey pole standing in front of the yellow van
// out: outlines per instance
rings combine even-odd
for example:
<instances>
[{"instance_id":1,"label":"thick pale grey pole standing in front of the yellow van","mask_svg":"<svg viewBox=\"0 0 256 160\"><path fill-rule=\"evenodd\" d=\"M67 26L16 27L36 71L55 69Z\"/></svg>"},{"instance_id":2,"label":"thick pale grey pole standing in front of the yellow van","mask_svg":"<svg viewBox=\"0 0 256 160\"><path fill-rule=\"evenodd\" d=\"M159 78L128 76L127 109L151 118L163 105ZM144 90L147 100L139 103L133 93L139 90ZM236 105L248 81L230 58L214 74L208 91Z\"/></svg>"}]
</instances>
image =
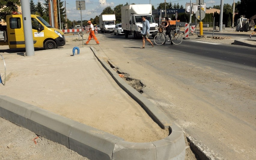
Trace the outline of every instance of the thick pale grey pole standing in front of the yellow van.
<instances>
[{"instance_id":1,"label":"thick pale grey pole standing in front of the yellow van","mask_svg":"<svg viewBox=\"0 0 256 160\"><path fill-rule=\"evenodd\" d=\"M26 56L34 56L34 42L29 1L21 0Z\"/></svg>"}]
</instances>

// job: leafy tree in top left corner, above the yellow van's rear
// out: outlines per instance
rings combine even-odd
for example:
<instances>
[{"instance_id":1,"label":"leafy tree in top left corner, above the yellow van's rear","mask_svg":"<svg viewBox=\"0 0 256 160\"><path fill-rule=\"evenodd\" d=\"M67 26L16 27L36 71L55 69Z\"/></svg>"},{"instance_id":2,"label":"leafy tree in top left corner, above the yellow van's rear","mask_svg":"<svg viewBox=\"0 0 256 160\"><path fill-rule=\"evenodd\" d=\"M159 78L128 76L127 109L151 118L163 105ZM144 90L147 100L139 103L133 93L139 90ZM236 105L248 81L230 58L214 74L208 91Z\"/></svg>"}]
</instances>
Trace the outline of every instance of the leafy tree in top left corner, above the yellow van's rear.
<instances>
[{"instance_id":1,"label":"leafy tree in top left corner, above the yellow van's rear","mask_svg":"<svg viewBox=\"0 0 256 160\"><path fill-rule=\"evenodd\" d=\"M0 1L0 19L6 21L6 15L12 14L13 11L18 11L20 0L1 0Z\"/></svg>"}]
</instances>

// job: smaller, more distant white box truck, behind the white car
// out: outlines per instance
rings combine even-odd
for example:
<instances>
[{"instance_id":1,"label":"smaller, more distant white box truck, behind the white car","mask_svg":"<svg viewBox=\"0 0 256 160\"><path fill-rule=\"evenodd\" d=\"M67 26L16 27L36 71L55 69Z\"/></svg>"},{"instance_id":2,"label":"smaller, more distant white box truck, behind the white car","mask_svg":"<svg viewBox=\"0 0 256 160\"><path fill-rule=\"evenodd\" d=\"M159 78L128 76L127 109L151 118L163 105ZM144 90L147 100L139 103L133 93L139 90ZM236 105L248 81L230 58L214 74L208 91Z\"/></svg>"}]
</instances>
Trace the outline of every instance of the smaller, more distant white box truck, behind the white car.
<instances>
[{"instance_id":1,"label":"smaller, more distant white box truck, behind the white car","mask_svg":"<svg viewBox=\"0 0 256 160\"><path fill-rule=\"evenodd\" d=\"M114 32L116 16L114 14L99 15L101 33Z\"/></svg>"}]
</instances>

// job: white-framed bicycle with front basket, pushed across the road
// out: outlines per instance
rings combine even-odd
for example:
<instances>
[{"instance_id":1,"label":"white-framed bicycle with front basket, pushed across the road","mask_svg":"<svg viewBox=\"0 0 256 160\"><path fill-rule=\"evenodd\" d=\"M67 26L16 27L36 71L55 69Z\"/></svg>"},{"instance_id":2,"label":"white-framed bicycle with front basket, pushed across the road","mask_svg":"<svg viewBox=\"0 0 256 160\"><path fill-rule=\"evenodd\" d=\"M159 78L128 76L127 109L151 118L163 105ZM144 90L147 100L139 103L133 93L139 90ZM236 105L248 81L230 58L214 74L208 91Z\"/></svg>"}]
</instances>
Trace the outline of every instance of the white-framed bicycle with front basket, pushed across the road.
<instances>
[{"instance_id":1,"label":"white-framed bicycle with front basket, pushed across the road","mask_svg":"<svg viewBox=\"0 0 256 160\"><path fill-rule=\"evenodd\" d=\"M179 28L172 29L171 37L168 37L168 35L165 34L166 30L164 30L163 28L159 28L158 30L159 30L159 33L157 33L157 35L155 35L154 37L154 43L156 45L165 44L167 39L168 39L167 41L172 41L172 43L175 45L181 44L183 38L180 33L176 33L179 31Z\"/></svg>"}]
</instances>

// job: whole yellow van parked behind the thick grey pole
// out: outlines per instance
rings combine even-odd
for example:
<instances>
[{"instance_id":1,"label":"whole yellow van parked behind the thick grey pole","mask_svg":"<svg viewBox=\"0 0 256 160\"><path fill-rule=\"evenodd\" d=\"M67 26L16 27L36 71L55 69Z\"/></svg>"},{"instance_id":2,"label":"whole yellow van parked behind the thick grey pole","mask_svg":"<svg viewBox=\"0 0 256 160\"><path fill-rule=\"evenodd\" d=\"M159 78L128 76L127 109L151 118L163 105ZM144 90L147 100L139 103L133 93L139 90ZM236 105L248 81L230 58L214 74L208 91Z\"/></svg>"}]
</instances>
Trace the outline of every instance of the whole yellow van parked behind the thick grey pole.
<instances>
[{"instance_id":1,"label":"whole yellow van parked behind the thick grey pole","mask_svg":"<svg viewBox=\"0 0 256 160\"><path fill-rule=\"evenodd\" d=\"M25 48L23 19L21 14L6 16L6 30L0 31L0 45L9 45L10 49ZM64 46L66 41L64 33L49 25L38 15L31 15L32 35L34 47L56 49Z\"/></svg>"}]
</instances>

